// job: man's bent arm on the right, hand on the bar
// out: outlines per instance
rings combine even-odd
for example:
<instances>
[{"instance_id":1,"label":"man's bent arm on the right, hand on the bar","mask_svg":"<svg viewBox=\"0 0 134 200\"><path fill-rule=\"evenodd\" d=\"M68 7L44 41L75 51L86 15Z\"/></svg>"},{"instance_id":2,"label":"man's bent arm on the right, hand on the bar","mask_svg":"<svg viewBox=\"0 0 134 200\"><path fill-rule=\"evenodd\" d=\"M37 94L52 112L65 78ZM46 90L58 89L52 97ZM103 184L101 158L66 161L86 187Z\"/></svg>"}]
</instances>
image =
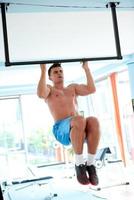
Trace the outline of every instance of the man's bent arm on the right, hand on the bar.
<instances>
[{"instance_id":1,"label":"man's bent arm on the right, hand on the bar","mask_svg":"<svg viewBox=\"0 0 134 200\"><path fill-rule=\"evenodd\" d=\"M82 67L83 67L85 74L86 74L87 83L86 84L76 84L75 85L75 91L76 91L77 95L84 96L84 95L94 93L96 91L96 88L95 88L95 84L94 84L92 74L91 74L90 69L88 67L88 62L87 61L83 62Z\"/></svg>"}]
</instances>

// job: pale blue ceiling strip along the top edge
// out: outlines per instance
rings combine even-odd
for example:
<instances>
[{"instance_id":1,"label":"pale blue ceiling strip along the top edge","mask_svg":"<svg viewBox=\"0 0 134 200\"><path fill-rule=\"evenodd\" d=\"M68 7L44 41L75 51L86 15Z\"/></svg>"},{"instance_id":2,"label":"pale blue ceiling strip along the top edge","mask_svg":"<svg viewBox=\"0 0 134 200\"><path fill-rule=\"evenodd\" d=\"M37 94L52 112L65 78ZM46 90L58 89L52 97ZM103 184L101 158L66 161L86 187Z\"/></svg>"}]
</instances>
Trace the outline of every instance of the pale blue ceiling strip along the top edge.
<instances>
[{"instance_id":1,"label":"pale blue ceiling strip along the top edge","mask_svg":"<svg viewBox=\"0 0 134 200\"><path fill-rule=\"evenodd\" d=\"M83 11L89 9L106 9L108 0L2 0L1 3L10 3L13 12L39 11ZM134 9L134 0L119 0L117 8ZM21 7L21 8L20 8Z\"/></svg>"}]
</instances>

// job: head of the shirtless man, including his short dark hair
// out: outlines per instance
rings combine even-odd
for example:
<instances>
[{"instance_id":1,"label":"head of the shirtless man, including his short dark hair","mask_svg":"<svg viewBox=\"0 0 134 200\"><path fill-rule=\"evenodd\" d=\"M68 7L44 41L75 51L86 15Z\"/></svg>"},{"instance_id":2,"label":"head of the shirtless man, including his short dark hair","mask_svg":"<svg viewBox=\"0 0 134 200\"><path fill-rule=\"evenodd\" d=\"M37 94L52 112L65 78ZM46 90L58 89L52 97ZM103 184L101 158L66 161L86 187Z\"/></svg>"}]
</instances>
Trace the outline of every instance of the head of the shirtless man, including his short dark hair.
<instances>
[{"instance_id":1,"label":"head of the shirtless man, including his short dark hair","mask_svg":"<svg viewBox=\"0 0 134 200\"><path fill-rule=\"evenodd\" d=\"M58 83L63 81L63 69L60 63L54 63L48 69L48 76L51 81Z\"/></svg>"}]
</instances>

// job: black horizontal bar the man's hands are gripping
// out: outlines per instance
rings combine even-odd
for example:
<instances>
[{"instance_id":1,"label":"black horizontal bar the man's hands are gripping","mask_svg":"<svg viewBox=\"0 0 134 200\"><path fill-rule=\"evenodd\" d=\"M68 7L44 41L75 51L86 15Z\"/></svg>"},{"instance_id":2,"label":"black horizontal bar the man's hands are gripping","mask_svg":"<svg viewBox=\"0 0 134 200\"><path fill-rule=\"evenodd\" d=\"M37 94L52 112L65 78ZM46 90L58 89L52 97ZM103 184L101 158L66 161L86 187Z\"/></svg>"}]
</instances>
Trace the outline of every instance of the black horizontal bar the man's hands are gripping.
<instances>
[{"instance_id":1,"label":"black horizontal bar the man's hands are gripping","mask_svg":"<svg viewBox=\"0 0 134 200\"><path fill-rule=\"evenodd\" d=\"M59 60L39 60L39 61L18 61L5 63L6 66L11 65L35 65L35 64L51 64L51 63L69 63L69 62L83 62L83 61L98 61L98 60L115 60L121 59L118 56L112 57L95 57L95 58L71 58L71 59L59 59Z\"/></svg>"}]
</instances>

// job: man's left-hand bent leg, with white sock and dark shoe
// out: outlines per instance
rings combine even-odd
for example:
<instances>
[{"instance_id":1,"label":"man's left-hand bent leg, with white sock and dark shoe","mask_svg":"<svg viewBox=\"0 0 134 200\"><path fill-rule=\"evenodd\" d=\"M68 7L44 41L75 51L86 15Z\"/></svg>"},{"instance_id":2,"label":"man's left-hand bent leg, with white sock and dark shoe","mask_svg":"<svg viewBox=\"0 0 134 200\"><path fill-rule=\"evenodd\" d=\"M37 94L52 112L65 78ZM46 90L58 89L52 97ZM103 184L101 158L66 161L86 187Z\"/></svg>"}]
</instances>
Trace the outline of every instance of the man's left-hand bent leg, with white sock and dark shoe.
<instances>
[{"instance_id":1,"label":"man's left-hand bent leg, with white sock and dark shoe","mask_svg":"<svg viewBox=\"0 0 134 200\"><path fill-rule=\"evenodd\" d=\"M82 116L75 116L71 120L70 139L75 153L75 169L77 179L81 184L89 184L86 166L83 158L83 144L85 141L86 120Z\"/></svg>"}]
</instances>

